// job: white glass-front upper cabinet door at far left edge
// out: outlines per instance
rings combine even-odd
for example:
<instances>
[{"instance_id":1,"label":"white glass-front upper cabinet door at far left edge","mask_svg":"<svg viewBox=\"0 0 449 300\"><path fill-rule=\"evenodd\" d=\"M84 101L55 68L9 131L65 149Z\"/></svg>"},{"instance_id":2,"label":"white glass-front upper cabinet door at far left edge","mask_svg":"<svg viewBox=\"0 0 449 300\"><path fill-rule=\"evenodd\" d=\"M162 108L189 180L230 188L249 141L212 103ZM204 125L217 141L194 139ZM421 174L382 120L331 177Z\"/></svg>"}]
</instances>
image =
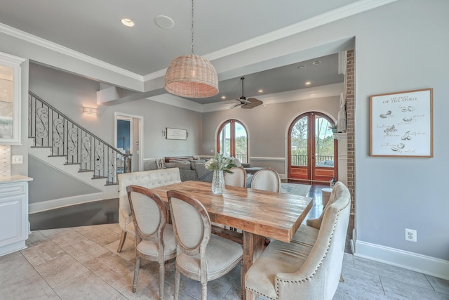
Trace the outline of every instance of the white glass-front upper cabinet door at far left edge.
<instances>
[{"instance_id":1,"label":"white glass-front upper cabinet door at far left edge","mask_svg":"<svg viewBox=\"0 0 449 300\"><path fill-rule=\"evenodd\" d=\"M25 59L0 53L0 144L20 144L20 63Z\"/></svg>"}]
</instances>

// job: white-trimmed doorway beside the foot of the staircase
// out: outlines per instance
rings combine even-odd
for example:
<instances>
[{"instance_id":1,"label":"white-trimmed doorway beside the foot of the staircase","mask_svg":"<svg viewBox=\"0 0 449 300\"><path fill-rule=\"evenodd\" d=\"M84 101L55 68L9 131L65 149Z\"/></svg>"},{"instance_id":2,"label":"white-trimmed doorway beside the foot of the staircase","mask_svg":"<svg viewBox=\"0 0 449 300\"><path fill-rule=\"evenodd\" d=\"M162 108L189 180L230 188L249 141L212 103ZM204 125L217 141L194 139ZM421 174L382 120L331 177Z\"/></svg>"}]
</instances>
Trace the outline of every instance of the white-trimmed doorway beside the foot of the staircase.
<instances>
[{"instance_id":1,"label":"white-trimmed doorway beside the foot of the staircase","mask_svg":"<svg viewBox=\"0 0 449 300\"><path fill-rule=\"evenodd\" d=\"M123 153L129 153L131 170L143 171L142 142L143 117L114 112L114 145Z\"/></svg>"}]
</instances>

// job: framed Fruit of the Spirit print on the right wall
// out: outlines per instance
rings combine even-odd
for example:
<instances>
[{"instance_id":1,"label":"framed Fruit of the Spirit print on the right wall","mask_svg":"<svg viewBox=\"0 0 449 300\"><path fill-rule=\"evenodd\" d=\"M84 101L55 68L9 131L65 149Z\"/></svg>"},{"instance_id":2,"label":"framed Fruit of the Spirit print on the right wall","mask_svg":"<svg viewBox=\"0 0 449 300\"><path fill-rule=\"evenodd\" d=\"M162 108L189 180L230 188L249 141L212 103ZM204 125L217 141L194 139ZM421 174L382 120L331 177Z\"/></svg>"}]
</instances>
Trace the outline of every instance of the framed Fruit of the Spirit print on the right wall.
<instances>
[{"instance_id":1,"label":"framed Fruit of the Spirit print on the right wall","mask_svg":"<svg viewBox=\"0 0 449 300\"><path fill-rule=\"evenodd\" d=\"M370 96L370 155L434 157L433 89Z\"/></svg>"}]
</instances>

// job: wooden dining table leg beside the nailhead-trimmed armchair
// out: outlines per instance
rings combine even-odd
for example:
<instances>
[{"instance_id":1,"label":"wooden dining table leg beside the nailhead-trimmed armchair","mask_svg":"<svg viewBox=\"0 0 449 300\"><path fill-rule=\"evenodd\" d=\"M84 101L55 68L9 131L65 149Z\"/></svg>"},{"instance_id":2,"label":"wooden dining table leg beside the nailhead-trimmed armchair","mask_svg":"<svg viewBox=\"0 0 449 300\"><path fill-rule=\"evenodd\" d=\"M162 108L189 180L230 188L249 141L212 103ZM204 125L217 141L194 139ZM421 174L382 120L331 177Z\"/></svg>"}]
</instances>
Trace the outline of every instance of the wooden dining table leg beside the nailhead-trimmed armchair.
<instances>
[{"instance_id":1,"label":"wooden dining table leg beside the nailhead-trimmed armchair","mask_svg":"<svg viewBox=\"0 0 449 300\"><path fill-rule=\"evenodd\" d=\"M253 261L264 250L265 237L243 231L243 265L241 267L241 291L243 300L254 300L256 295L245 289L245 275Z\"/></svg>"}]
</instances>

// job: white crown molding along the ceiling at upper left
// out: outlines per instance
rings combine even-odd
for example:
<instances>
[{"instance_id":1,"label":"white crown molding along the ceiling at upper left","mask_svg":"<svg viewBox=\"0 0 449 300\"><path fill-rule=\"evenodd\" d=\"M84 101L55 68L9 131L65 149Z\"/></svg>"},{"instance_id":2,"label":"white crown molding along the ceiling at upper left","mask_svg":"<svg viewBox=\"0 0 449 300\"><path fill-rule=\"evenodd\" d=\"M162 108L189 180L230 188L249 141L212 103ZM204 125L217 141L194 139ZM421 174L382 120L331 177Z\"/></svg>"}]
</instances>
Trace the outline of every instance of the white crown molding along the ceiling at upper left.
<instances>
[{"instance_id":1,"label":"white crown molding along the ceiling at upper left","mask_svg":"<svg viewBox=\"0 0 449 300\"><path fill-rule=\"evenodd\" d=\"M122 69L121 67L117 67L115 65L112 65L110 63L105 63L102 60L98 60L97 58L93 58L91 56L86 56L83 53L80 53L78 51L74 51L70 48L67 48L65 46L61 46L59 44L53 43L53 41L48 41L46 39L42 39L41 37L36 37L33 34L29 34L27 32L23 32L22 30L18 30L14 27L8 26L6 24L0 23L0 32L3 32L4 34L11 35L12 37L22 39L24 41L27 41L29 43L35 44L37 46L41 46L43 48L48 48L52 51L56 51L58 53L62 53L66 56L76 58L77 60L81 60L83 62L89 63L91 65L95 65L97 67L101 67L102 69L106 69L112 72L116 72L117 74L121 74L126 77L130 77L132 79L136 79L139 81L143 81L143 76L139 74L135 74L133 72L130 72L128 70Z\"/></svg>"}]
</instances>

